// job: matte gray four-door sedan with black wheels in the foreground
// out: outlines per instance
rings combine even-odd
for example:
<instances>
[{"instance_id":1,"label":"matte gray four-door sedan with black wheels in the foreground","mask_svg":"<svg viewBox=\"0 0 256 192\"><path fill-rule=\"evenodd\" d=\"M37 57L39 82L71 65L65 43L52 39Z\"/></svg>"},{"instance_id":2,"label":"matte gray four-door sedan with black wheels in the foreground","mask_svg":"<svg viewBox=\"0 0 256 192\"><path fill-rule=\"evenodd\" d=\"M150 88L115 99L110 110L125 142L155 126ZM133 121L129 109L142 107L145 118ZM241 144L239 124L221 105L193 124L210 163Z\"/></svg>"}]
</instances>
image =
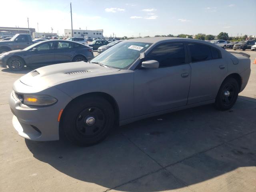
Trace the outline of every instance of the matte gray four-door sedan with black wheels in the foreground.
<instances>
[{"instance_id":1,"label":"matte gray four-door sedan with black wheels in the foreground","mask_svg":"<svg viewBox=\"0 0 256 192\"><path fill-rule=\"evenodd\" d=\"M17 80L10 95L18 134L36 141L88 146L114 124L214 103L228 110L250 77L250 55L209 42L137 38L89 62L38 68Z\"/></svg>"}]
</instances>

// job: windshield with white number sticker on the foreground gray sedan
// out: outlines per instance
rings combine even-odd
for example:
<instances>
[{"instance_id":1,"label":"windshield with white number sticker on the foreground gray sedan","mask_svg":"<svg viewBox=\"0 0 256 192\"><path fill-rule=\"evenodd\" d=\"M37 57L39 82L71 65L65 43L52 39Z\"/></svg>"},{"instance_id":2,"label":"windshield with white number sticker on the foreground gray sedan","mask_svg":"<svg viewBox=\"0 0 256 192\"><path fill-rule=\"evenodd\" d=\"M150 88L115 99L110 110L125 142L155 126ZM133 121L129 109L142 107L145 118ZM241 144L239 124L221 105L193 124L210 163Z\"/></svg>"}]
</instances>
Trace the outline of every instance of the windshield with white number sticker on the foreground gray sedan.
<instances>
[{"instance_id":1,"label":"windshield with white number sticker on the foreground gray sedan","mask_svg":"<svg viewBox=\"0 0 256 192\"><path fill-rule=\"evenodd\" d=\"M150 45L152 44L123 41L99 54L90 62L104 64L111 68L127 69Z\"/></svg>"}]
</instances>

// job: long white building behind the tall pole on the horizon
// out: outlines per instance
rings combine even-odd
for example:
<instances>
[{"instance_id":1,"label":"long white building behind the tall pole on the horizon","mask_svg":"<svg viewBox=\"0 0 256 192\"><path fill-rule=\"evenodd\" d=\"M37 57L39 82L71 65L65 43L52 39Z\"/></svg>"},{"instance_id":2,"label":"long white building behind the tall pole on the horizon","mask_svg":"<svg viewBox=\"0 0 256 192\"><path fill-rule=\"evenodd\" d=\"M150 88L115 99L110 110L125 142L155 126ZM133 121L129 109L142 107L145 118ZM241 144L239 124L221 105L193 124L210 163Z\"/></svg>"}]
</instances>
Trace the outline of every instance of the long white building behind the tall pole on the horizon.
<instances>
[{"instance_id":1,"label":"long white building behind the tall pole on the horizon","mask_svg":"<svg viewBox=\"0 0 256 192\"><path fill-rule=\"evenodd\" d=\"M72 37L71 29L64 29L64 35L66 37ZM99 30L76 30L73 29L73 37L85 37L85 38L103 38L103 29Z\"/></svg>"}]
</instances>

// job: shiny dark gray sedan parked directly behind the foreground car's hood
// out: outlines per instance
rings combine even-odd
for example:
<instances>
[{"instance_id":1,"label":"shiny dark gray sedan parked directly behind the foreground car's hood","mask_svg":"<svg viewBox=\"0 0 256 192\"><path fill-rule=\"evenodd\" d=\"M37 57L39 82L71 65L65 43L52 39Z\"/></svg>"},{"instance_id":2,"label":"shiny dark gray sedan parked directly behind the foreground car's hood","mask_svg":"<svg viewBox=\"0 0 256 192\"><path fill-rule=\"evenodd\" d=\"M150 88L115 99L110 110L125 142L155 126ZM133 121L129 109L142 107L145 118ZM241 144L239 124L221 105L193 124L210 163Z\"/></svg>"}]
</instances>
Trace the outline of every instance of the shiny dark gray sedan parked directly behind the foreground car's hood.
<instances>
[{"instance_id":1,"label":"shiny dark gray sedan parked directly behind the foreground car's hood","mask_svg":"<svg viewBox=\"0 0 256 192\"><path fill-rule=\"evenodd\" d=\"M67 40L46 40L23 50L0 54L0 66L22 70L24 66L41 67L56 63L88 61L94 57L92 48Z\"/></svg>"}]
</instances>

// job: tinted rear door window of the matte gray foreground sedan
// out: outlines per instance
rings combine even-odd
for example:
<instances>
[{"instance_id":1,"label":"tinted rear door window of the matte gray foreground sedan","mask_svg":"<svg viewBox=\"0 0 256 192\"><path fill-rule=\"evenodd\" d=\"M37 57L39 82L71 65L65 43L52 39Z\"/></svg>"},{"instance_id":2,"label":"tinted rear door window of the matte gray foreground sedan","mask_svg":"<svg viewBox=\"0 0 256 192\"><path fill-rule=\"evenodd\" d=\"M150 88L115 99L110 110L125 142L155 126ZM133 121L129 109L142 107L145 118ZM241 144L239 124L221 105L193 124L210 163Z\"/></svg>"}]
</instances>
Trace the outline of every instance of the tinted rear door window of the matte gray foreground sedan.
<instances>
[{"instance_id":1,"label":"tinted rear door window of the matte gray foreground sedan","mask_svg":"<svg viewBox=\"0 0 256 192\"><path fill-rule=\"evenodd\" d=\"M191 62L199 62L212 59L212 51L210 46L189 43Z\"/></svg>"}]
</instances>

